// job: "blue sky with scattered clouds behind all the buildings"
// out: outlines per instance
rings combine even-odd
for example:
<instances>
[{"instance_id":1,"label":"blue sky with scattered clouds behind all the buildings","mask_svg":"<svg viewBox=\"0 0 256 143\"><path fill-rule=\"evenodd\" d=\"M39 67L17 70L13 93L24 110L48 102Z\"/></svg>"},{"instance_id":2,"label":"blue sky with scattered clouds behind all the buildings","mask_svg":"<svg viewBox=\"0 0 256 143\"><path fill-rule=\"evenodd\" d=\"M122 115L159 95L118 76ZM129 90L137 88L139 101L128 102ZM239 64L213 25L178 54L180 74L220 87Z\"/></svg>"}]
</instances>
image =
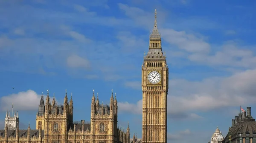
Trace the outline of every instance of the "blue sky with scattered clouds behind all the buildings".
<instances>
[{"instance_id":1,"label":"blue sky with scattered clouds behind all the buildings","mask_svg":"<svg viewBox=\"0 0 256 143\"><path fill-rule=\"evenodd\" d=\"M19 110L35 128L41 93L74 120L90 120L93 89L116 92L123 128L141 137L141 65L154 9L169 65L169 141L206 143L224 135L240 105L256 115L254 0L0 0L0 127ZM12 89L12 87L15 87ZM198 136L200 139L198 140Z\"/></svg>"}]
</instances>

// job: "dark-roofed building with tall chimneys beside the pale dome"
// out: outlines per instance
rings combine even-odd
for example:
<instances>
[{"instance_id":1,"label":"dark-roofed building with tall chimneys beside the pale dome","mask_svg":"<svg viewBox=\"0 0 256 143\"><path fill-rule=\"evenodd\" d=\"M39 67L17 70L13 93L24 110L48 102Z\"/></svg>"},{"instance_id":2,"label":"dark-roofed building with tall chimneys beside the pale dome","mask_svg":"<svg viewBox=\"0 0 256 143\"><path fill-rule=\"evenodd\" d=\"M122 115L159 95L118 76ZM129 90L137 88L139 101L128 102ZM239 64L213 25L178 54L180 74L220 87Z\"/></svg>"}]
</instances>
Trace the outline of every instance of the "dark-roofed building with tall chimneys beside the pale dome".
<instances>
[{"instance_id":1,"label":"dark-roofed building with tall chimneys beside the pale dome","mask_svg":"<svg viewBox=\"0 0 256 143\"><path fill-rule=\"evenodd\" d=\"M251 116L251 107L232 119L227 136L222 143L256 143L256 121Z\"/></svg>"}]
</instances>

